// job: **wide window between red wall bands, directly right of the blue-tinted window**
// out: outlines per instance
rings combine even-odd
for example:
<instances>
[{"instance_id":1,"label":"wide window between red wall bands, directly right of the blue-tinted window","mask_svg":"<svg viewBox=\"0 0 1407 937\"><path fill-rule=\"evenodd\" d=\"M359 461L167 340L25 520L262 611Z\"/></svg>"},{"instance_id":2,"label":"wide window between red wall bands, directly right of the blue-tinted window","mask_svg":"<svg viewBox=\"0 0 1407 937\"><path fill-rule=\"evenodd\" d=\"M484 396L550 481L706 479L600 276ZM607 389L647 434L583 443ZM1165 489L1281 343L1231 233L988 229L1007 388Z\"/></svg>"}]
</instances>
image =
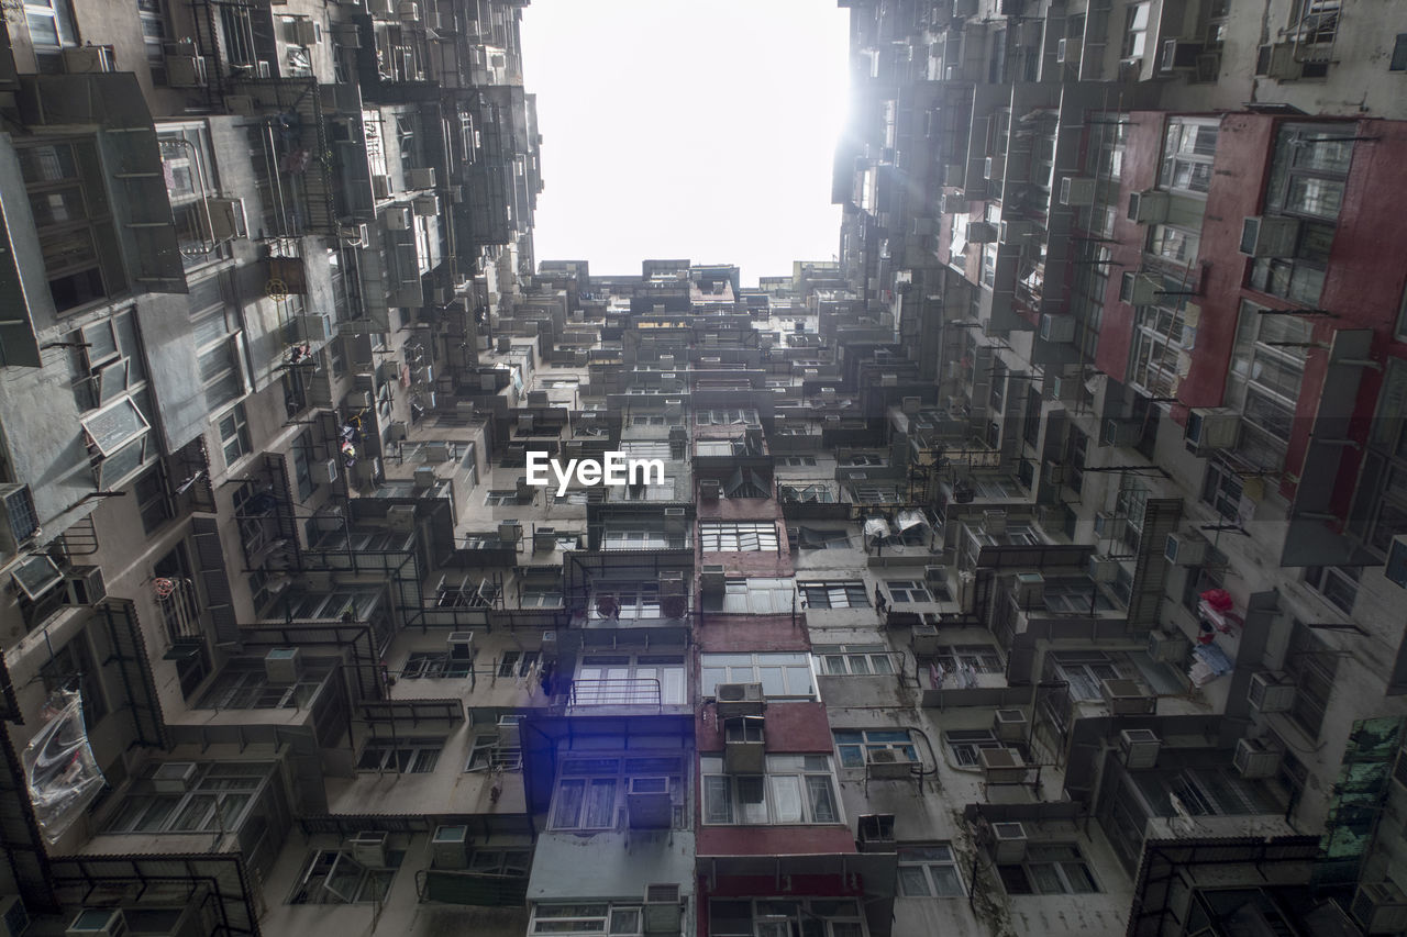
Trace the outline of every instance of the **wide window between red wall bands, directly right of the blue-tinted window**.
<instances>
[{"instance_id":1,"label":"wide window between red wall bands, directly right of the blue-tinted window","mask_svg":"<svg viewBox=\"0 0 1407 937\"><path fill-rule=\"evenodd\" d=\"M723 758L699 758L704 822L722 824L841 823L829 756L767 756L767 774L723 774Z\"/></svg>"}]
</instances>

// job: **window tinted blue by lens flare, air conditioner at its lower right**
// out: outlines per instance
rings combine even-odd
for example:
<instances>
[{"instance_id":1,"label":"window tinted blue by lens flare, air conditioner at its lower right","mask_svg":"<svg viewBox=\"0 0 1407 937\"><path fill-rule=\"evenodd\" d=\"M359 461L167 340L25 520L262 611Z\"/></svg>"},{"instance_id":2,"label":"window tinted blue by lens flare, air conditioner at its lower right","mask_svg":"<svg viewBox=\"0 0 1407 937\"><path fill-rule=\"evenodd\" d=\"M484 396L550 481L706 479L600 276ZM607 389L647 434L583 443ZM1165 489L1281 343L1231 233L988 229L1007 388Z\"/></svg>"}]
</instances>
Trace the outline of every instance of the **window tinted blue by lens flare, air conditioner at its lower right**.
<instances>
[{"instance_id":1,"label":"window tinted blue by lens flare, air conditioner at its lower right","mask_svg":"<svg viewBox=\"0 0 1407 937\"><path fill-rule=\"evenodd\" d=\"M570 756L561 763L552 799L549 827L553 830L613 830L625 810L630 778L667 777L682 822L684 774L678 756L598 757Z\"/></svg>"}]
</instances>

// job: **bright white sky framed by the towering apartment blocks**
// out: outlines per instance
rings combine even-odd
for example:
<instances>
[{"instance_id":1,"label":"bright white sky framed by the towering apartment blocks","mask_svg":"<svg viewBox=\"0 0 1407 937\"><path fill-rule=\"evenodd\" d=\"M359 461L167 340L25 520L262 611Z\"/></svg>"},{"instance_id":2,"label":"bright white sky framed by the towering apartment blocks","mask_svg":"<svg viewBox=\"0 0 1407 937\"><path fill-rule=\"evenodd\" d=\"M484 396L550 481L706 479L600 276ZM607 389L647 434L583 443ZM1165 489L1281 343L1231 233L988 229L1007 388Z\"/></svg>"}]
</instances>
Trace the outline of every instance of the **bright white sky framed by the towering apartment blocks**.
<instances>
[{"instance_id":1,"label":"bright white sky framed by the towering apartment blocks","mask_svg":"<svg viewBox=\"0 0 1407 937\"><path fill-rule=\"evenodd\" d=\"M846 114L836 0L532 0L539 260L736 263L743 283L829 260Z\"/></svg>"}]
</instances>

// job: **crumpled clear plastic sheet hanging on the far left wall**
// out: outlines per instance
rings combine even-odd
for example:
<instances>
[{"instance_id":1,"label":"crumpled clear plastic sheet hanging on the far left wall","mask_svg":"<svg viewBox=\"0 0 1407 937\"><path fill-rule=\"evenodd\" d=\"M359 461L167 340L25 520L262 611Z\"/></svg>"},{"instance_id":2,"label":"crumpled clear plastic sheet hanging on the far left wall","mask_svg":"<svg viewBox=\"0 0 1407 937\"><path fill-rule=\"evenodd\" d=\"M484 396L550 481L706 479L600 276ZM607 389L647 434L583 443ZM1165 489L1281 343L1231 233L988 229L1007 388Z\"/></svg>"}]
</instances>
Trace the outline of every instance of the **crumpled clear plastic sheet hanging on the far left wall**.
<instances>
[{"instance_id":1,"label":"crumpled clear plastic sheet hanging on the far left wall","mask_svg":"<svg viewBox=\"0 0 1407 937\"><path fill-rule=\"evenodd\" d=\"M24 777L34 819L51 844L97 798L107 781L89 747L83 725L83 696L61 689L44 705L48 722L25 746Z\"/></svg>"}]
</instances>

